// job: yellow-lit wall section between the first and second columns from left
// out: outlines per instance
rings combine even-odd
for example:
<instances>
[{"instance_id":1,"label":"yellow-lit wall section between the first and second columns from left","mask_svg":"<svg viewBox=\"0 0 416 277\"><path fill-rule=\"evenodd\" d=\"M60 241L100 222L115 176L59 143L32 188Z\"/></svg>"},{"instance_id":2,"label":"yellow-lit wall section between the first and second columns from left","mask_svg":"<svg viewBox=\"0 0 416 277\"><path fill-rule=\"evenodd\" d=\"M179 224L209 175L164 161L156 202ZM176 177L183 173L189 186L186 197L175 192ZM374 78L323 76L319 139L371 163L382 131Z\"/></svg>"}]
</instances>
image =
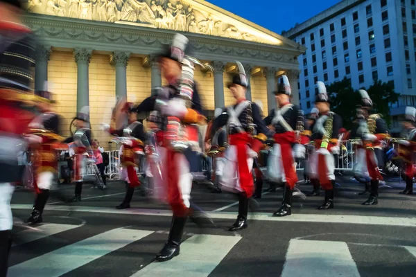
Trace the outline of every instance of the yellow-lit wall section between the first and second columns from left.
<instances>
[{"instance_id":1,"label":"yellow-lit wall section between the first and second columns from left","mask_svg":"<svg viewBox=\"0 0 416 277\"><path fill-rule=\"evenodd\" d=\"M48 64L48 80L62 116L62 135L69 136L69 124L76 116L76 62L72 52L53 51Z\"/></svg>"}]
</instances>

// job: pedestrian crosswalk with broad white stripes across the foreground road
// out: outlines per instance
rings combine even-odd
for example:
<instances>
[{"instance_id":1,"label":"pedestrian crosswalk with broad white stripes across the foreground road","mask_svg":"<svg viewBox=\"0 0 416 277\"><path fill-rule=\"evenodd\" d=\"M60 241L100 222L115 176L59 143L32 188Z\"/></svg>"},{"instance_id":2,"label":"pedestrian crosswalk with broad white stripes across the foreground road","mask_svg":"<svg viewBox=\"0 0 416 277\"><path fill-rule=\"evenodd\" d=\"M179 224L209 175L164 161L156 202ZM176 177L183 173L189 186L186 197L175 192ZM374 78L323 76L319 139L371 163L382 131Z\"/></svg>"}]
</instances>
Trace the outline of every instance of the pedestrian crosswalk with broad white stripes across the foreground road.
<instances>
[{"instance_id":1,"label":"pedestrian crosswalk with broad white stripes across the foreground road","mask_svg":"<svg viewBox=\"0 0 416 277\"><path fill-rule=\"evenodd\" d=\"M58 277L58 276L110 276L106 268L117 267L116 276L126 277L219 277L235 276L235 267L252 267L262 264L263 267L270 267L268 276L281 277L361 277L367 276L361 271L363 268L363 257L360 251L352 251L353 248L374 247L374 244L359 244L340 241L325 240L303 240L291 239L287 242L286 256L264 257L256 256L251 252L252 242L245 240L243 236L236 236L233 233L198 234L185 235L181 244L180 256L168 262L155 262L143 256L142 241L147 244L159 244L159 241L166 238L166 234L159 231L136 229L137 226L123 226L121 228L105 229L103 231L92 231L89 226L71 224L41 224L35 228L19 231L15 235L19 237L19 245L12 248L12 256L19 256L21 253L13 251L34 252L41 249L24 249L25 244L42 242L36 244L47 244L57 235L64 234L65 238L71 238L71 233L79 235L79 239L69 239L67 244L59 244L55 248L49 247L46 253L28 256L26 260L12 262L9 267L8 277ZM80 235L82 233L82 235ZM265 240L267 238L264 238ZM245 241L244 241L245 240ZM53 244L53 243L52 243ZM134 247L130 247L130 246ZM162 248L162 244L156 246ZM273 249L275 245L266 245ZM380 247L377 245L376 247ZM404 260L412 260L407 265L409 272L416 270L416 247L387 245L401 249L400 253L406 256ZM154 251L154 249L151 249ZM156 250L157 251L157 250ZM266 249L264 250L266 251ZM239 253L248 253L240 258ZM270 252L269 252L270 253ZM365 253L365 251L363 251ZM150 253L151 254L151 253ZM150 256L148 253L147 256ZM123 257L134 257L139 265L128 267L123 264ZM376 254L374 254L376 256ZM120 258L121 257L121 258ZM372 257L365 257L365 259ZM389 257L390 258L390 257ZM105 267L97 265L107 264L109 260L116 259ZM394 259L400 260L400 257ZM99 262L101 260L101 262ZM279 266L281 260L284 265ZM365 267L369 267L367 264ZM92 271L92 268L94 271ZM264 274L263 274L264 275ZM112 273L114 276L114 273ZM241 274L239 274L241 276ZM248 270L244 276L260 276ZM383 275L378 275L383 276ZM387 276L387 275L386 275ZM412 276L402 274L401 276Z\"/></svg>"}]
</instances>

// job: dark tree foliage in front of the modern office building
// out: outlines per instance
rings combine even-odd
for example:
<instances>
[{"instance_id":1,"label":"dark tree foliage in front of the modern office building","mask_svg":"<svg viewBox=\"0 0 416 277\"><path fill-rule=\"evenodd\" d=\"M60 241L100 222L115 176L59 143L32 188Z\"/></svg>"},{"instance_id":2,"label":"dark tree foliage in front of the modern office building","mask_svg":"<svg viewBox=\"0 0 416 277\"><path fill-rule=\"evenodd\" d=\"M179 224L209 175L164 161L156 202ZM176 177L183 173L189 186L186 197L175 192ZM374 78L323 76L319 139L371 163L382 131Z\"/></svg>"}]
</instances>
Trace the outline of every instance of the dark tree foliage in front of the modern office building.
<instances>
[{"instance_id":1,"label":"dark tree foliage in front of the modern office building","mask_svg":"<svg viewBox=\"0 0 416 277\"><path fill-rule=\"evenodd\" d=\"M395 92L392 84L381 82L381 80L374 80L374 83L365 90L373 102L372 113L382 114L390 125L390 103L397 102L399 93ZM327 91L331 101L331 110L343 118L343 125L346 129L351 129L356 119L356 107L362 104L360 93L352 88L351 82L346 77L329 84Z\"/></svg>"}]
</instances>

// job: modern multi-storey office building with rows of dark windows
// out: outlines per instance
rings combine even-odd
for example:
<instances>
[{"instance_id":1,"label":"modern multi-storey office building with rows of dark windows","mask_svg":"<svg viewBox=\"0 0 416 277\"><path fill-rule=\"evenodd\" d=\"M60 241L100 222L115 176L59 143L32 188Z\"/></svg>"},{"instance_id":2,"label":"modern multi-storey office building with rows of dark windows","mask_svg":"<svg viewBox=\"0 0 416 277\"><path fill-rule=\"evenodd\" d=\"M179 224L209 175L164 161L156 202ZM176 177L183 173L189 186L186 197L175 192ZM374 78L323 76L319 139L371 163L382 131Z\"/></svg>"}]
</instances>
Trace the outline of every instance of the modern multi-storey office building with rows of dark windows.
<instances>
[{"instance_id":1,"label":"modern multi-storey office building with rows of dark windows","mask_svg":"<svg viewBox=\"0 0 416 277\"><path fill-rule=\"evenodd\" d=\"M351 80L370 87L374 79L393 82L401 94L391 114L416 105L416 1L344 0L282 33L308 48L298 57L302 108L313 107L315 83ZM396 120L397 121L397 120Z\"/></svg>"}]
</instances>

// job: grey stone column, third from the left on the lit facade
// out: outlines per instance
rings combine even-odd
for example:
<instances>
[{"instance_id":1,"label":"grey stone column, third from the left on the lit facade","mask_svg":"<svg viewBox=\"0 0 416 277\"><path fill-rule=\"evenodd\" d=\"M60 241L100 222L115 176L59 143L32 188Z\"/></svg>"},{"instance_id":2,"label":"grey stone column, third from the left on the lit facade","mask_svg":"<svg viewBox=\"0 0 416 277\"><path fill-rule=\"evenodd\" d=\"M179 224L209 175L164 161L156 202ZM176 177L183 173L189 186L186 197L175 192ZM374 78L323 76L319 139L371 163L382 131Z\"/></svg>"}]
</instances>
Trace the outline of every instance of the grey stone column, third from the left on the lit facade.
<instances>
[{"instance_id":1,"label":"grey stone column, third from the left on the lit facade","mask_svg":"<svg viewBox=\"0 0 416 277\"><path fill-rule=\"evenodd\" d=\"M130 53L113 52L111 62L116 66L116 100L127 98L127 64Z\"/></svg>"}]
</instances>

